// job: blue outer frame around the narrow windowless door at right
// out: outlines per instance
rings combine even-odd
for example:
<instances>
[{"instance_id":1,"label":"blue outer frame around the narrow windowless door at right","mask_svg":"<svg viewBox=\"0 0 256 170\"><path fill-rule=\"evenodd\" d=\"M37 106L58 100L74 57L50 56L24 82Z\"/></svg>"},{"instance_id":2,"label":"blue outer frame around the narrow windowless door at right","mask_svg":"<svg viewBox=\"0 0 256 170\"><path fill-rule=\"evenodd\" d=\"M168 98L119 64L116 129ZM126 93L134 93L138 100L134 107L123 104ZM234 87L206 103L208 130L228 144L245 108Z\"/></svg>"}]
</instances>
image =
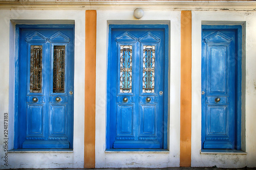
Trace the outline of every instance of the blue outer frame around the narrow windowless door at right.
<instances>
[{"instance_id":1,"label":"blue outer frame around the narrow windowless door at right","mask_svg":"<svg viewBox=\"0 0 256 170\"><path fill-rule=\"evenodd\" d=\"M242 147L242 26L241 25L202 25L201 28L201 41L202 41L202 36L203 36L203 30L236 30L236 53L237 53L237 58L236 58L236 75L235 75L235 91L236 91L236 99L235 99L235 134L234 134L234 148L236 150L241 150ZM202 42L201 42L202 46ZM205 75L205 72L203 72L203 67L206 63L203 62L203 51L201 52L201 91L204 91L204 86L203 86L203 75ZM206 71L206 70L205 70ZM201 149L203 149L203 142L204 142L204 137L205 137L205 95L201 95L201 114L202 114L202 121L201 121Z\"/></svg>"}]
</instances>

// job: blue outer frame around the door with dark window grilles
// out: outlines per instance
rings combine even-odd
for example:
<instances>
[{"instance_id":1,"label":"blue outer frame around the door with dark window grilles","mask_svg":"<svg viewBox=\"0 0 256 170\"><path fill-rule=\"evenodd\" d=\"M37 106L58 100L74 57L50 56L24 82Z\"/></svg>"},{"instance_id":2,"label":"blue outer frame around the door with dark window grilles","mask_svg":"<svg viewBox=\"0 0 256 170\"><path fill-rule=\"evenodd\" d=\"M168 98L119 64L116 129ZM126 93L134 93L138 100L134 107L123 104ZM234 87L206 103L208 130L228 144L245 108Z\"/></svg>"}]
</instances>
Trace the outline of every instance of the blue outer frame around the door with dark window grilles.
<instances>
[{"instance_id":1,"label":"blue outer frame around the door with dark window grilles","mask_svg":"<svg viewBox=\"0 0 256 170\"><path fill-rule=\"evenodd\" d=\"M73 30L73 36L75 37L75 25L74 24L38 24L38 25L26 25L26 24L20 24L20 25L16 25L15 26L15 55L14 55L14 139L13 139L13 148L14 149L20 149L19 146L19 121L18 121L18 105L19 105L19 101L18 101L18 95L19 95L19 65L20 65L20 61L19 61L19 45L20 45L20 33L21 33L21 29L60 29L60 28L65 28L65 29L72 29ZM73 41L75 41L75 38L73 37ZM74 44L73 44L74 45ZM74 48L72 48L71 50L74 50ZM73 52L72 52L73 53ZM75 58L74 58L74 53L73 53L73 67L71 69L73 69L74 72L74 62L75 62ZM73 74L73 82L74 82L74 74ZM73 95L74 95L74 91L73 91ZM74 97L73 97L74 98ZM73 99L74 100L74 99ZM73 101L73 107L72 107L72 124L70 125L72 127L72 138L70 141L70 149L73 149L73 134L74 134L74 101Z\"/></svg>"}]
</instances>

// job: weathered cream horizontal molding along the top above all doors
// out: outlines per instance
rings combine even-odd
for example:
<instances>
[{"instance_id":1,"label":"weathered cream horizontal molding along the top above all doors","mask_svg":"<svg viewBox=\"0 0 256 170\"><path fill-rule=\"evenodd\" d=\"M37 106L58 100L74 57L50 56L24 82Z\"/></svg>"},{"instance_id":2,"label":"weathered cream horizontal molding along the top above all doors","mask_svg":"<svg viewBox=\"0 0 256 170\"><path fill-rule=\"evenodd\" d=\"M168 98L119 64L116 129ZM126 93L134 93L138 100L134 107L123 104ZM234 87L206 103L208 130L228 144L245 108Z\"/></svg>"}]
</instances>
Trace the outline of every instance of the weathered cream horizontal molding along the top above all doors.
<instances>
[{"instance_id":1,"label":"weathered cream horizontal molding along the top above all doors","mask_svg":"<svg viewBox=\"0 0 256 170\"><path fill-rule=\"evenodd\" d=\"M0 9L134 10L135 8L143 8L143 10L255 11L256 1L0 0Z\"/></svg>"}]
</instances>

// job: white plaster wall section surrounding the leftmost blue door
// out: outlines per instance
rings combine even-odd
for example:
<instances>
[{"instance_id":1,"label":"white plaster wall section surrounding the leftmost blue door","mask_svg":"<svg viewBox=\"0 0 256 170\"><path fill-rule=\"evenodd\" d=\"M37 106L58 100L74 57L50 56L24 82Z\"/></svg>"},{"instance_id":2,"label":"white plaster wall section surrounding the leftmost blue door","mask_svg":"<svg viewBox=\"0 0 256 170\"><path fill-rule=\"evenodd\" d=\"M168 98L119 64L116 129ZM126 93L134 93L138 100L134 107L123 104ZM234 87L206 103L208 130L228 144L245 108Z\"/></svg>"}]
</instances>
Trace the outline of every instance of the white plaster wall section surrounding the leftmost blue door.
<instances>
[{"instance_id":1,"label":"white plaster wall section surrounding the leftmost blue door","mask_svg":"<svg viewBox=\"0 0 256 170\"><path fill-rule=\"evenodd\" d=\"M14 112L14 25L17 23L70 23L75 22L75 82L74 82L74 149L73 152L8 153L4 165L4 130L0 132L0 168L82 168L84 145L84 11L1 10L0 11L0 122L9 113L9 150L13 149ZM51 21L49 21L49 19ZM36 20L36 21L35 21ZM58 21L54 21L58 20ZM68 21L69 20L69 21ZM70 21L73 20L73 21ZM9 75L10 73L10 75ZM9 81L10 78L10 81Z\"/></svg>"}]
</instances>

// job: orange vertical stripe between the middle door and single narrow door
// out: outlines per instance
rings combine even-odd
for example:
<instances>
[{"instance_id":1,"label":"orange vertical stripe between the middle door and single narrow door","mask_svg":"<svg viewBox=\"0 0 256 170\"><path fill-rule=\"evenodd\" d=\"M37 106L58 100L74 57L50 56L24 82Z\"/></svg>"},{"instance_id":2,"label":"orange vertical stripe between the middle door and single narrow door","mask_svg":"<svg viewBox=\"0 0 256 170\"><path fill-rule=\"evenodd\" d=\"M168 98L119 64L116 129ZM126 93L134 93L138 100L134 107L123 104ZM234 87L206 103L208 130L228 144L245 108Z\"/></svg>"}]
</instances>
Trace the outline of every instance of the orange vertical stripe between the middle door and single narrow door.
<instances>
[{"instance_id":1,"label":"orange vertical stripe between the middle door and single narrow door","mask_svg":"<svg viewBox=\"0 0 256 170\"><path fill-rule=\"evenodd\" d=\"M181 11L180 166L191 166L191 11Z\"/></svg>"}]
</instances>

